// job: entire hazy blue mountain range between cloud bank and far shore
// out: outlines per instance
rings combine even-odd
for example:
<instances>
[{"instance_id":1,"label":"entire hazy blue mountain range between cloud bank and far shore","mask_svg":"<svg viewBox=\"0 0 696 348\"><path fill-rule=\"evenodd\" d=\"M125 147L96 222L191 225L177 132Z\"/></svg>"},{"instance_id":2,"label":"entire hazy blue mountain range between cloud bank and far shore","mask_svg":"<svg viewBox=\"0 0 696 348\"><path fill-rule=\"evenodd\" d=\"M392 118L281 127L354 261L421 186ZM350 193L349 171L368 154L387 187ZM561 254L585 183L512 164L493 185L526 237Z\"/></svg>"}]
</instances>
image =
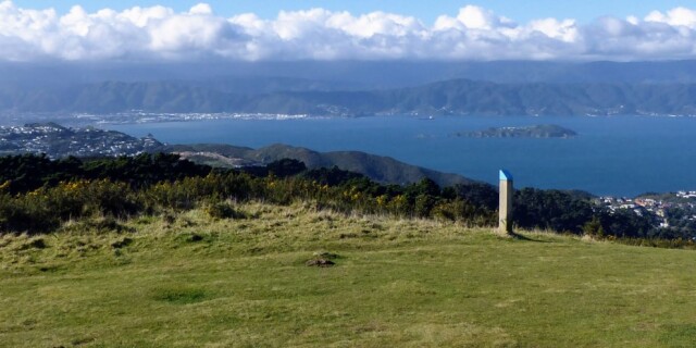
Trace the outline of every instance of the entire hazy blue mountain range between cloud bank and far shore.
<instances>
[{"instance_id":1,"label":"entire hazy blue mountain range between cloud bank and far shore","mask_svg":"<svg viewBox=\"0 0 696 348\"><path fill-rule=\"evenodd\" d=\"M693 115L696 61L0 63L0 114Z\"/></svg>"}]
</instances>

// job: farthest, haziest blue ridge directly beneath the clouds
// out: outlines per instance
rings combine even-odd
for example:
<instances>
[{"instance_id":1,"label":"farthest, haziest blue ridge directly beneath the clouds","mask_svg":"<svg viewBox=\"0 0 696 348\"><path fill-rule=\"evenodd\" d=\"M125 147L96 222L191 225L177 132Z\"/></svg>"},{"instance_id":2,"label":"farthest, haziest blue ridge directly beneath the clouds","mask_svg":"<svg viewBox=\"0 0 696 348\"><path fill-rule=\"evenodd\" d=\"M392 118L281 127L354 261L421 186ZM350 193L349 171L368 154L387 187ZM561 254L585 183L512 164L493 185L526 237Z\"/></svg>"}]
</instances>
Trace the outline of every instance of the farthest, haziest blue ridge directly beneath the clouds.
<instances>
[{"instance_id":1,"label":"farthest, haziest blue ridge directly beneath the clouds","mask_svg":"<svg viewBox=\"0 0 696 348\"><path fill-rule=\"evenodd\" d=\"M554 61L201 61L144 63L0 62L0 84L88 85L102 82L234 82L253 92L287 90L278 82L340 89L413 87L448 79L500 84L696 83L696 60L648 62ZM316 87L314 85L313 87ZM310 88L313 88L310 86Z\"/></svg>"}]
</instances>

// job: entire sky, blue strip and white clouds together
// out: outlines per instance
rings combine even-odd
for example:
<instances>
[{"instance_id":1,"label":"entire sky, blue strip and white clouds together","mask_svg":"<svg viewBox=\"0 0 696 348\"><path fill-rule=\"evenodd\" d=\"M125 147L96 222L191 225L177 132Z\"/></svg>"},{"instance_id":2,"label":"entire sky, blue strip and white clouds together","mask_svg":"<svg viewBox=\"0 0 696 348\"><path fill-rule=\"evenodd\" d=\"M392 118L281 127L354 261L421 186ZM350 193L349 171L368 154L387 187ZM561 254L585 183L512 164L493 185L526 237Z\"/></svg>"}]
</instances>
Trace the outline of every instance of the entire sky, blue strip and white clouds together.
<instances>
[{"instance_id":1,"label":"entire sky, blue strip and white clouds together","mask_svg":"<svg viewBox=\"0 0 696 348\"><path fill-rule=\"evenodd\" d=\"M696 0L0 0L0 61L696 59Z\"/></svg>"}]
</instances>

